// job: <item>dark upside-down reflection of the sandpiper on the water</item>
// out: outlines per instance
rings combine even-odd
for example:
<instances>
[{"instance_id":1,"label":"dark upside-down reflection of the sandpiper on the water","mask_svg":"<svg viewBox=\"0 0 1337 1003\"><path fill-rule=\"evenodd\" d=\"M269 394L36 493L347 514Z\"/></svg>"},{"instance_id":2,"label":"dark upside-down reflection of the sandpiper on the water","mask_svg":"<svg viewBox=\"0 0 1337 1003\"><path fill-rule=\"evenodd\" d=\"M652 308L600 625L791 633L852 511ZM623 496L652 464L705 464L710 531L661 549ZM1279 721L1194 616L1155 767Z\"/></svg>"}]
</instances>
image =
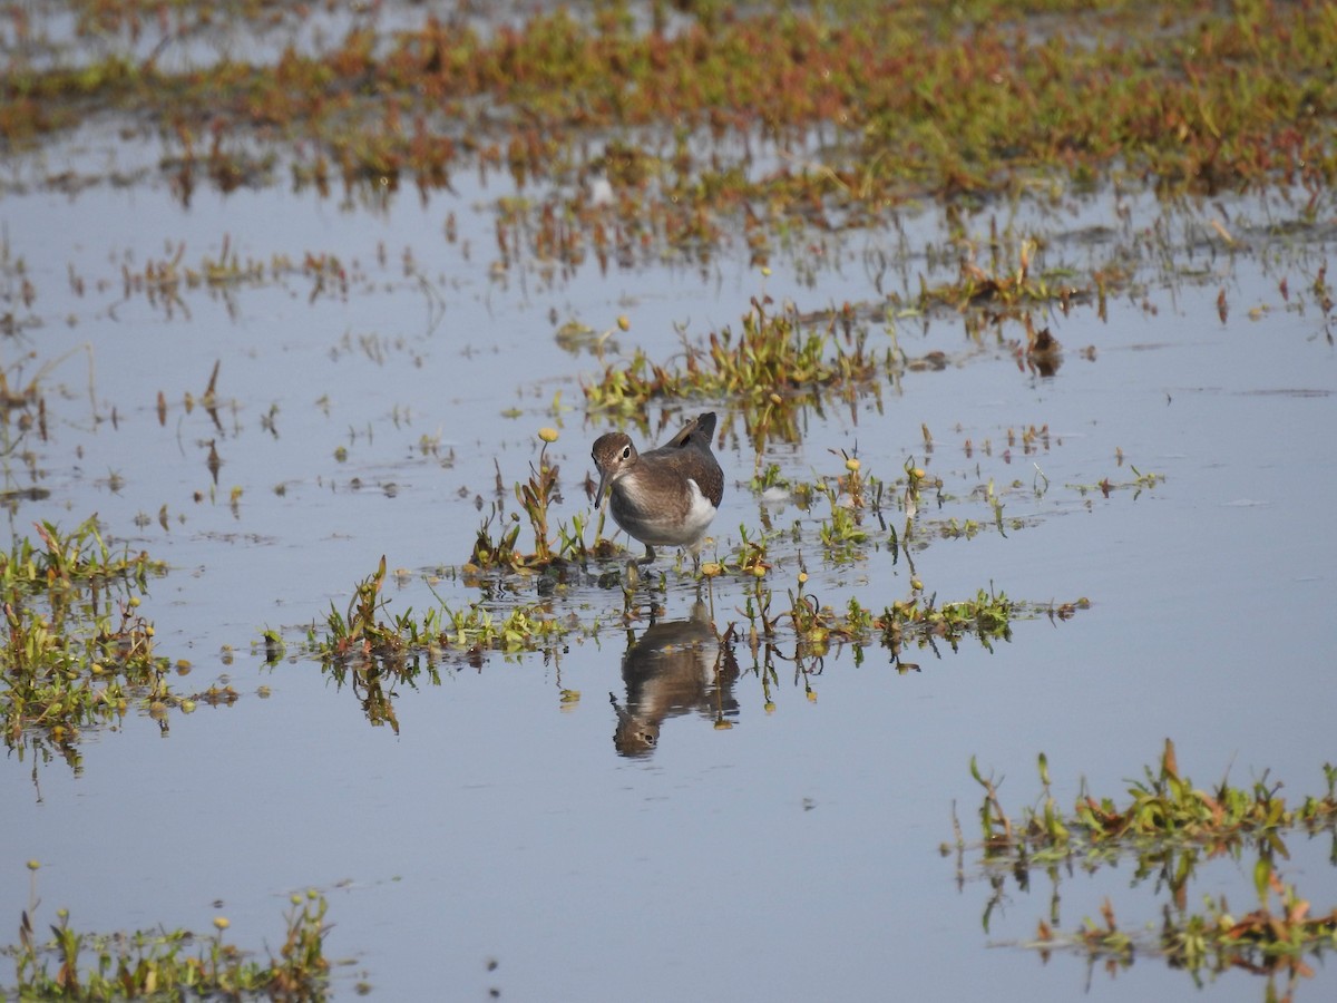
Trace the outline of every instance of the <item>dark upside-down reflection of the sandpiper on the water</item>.
<instances>
[{"instance_id":1,"label":"dark upside-down reflection of the sandpiper on the water","mask_svg":"<svg viewBox=\"0 0 1337 1003\"><path fill-rule=\"evenodd\" d=\"M719 643L703 602L698 600L685 621L651 623L622 658L626 706L608 694L618 711L612 733L618 754L648 756L659 742L659 725L678 714L697 711L727 728L738 717L737 678L734 653Z\"/></svg>"}]
</instances>

